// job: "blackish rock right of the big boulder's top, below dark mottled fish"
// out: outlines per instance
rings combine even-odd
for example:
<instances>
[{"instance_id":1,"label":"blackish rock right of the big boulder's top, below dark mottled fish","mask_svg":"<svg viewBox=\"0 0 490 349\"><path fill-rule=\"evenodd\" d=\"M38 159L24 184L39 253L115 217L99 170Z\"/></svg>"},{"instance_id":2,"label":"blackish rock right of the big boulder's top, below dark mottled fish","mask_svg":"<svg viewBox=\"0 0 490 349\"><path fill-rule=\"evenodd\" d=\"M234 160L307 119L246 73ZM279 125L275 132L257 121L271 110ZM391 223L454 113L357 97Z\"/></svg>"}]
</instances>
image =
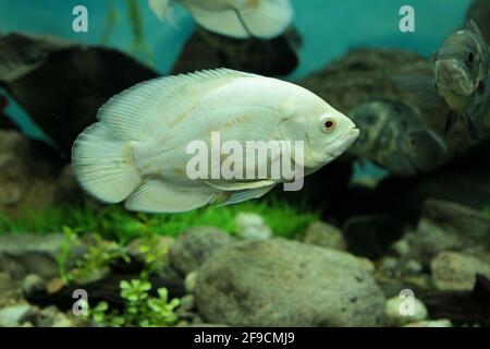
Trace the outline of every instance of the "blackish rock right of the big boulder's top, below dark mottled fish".
<instances>
[{"instance_id":1,"label":"blackish rock right of the big boulder's top, below dark mottled fish","mask_svg":"<svg viewBox=\"0 0 490 349\"><path fill-rule=\"evenodd\" d=\"M368 258L382 256L402 234L402 225L389 216L366 215L348 218L343 229L348 251Z\"/></svg>"}]
</instances>

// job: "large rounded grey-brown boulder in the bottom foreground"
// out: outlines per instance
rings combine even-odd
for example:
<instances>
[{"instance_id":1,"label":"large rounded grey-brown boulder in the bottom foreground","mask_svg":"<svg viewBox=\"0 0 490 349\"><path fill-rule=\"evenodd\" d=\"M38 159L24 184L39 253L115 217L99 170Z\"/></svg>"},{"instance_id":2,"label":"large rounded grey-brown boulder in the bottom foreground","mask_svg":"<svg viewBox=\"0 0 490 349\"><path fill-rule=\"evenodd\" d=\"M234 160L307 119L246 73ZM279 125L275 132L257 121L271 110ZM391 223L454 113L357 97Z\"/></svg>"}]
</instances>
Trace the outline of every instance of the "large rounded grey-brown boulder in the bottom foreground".
<instances>
[{"instance_id":1,"label":"large rounded grey-brown boulder in the bottom foreground","mask_svg":"<svg viewBox=\"0 0 490 349\"><path fill-rule=\"evenodd\" d=\"M199 270L196 306L231 326L376 326L384 297L351 254L301 242L245 241Z\"/></svg>"}]
</instances>

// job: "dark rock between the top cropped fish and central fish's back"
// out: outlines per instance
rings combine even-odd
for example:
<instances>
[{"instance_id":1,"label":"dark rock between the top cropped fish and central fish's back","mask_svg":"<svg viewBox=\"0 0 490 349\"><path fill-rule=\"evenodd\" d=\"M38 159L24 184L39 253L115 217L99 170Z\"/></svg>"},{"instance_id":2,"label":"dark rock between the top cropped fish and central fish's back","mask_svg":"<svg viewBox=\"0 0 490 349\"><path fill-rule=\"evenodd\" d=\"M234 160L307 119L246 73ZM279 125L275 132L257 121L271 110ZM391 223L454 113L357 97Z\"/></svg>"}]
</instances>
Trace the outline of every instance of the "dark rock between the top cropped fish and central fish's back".
<instances>
[{"instance_id":1,"label":"dark rock between the top cropped fish and central fish's back","mask_svg":"<svg viewBox=\"0 0 490 349\"><path fill-rule=\"evenodd\" d=\"M229 68L267 76L287 75L298 64L294 29L271 40L224 37L197 28L185 44L173 74Z\"/></svg>"}]
</instances>

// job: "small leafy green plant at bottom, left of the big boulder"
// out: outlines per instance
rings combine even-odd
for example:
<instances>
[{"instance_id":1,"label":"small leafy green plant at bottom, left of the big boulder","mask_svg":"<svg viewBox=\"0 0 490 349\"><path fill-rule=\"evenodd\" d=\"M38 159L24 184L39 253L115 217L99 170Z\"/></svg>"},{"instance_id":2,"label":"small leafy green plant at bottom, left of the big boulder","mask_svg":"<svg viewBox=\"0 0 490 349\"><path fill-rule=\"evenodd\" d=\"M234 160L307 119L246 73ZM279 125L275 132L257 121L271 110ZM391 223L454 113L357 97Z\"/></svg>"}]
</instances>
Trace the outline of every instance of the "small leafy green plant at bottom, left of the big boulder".
<instances>
[{"instance_id":1,"label":"small leafy green plant at bottom, left of the big boulder","mask_svg":"<svg viewBox=\"0 0 490 349\"><path fill-rule=\"evenodd\" d=\"M159 288L157 297L149 294L151 284L142 279L123 280L120 288L124 300L122 312L110 310L107 302L100 302L88 312L94 322L115 327L167 327L179 320L174 310L180 305L180 300L169 301L166 288Z\"/></svg>"}]
</instances>

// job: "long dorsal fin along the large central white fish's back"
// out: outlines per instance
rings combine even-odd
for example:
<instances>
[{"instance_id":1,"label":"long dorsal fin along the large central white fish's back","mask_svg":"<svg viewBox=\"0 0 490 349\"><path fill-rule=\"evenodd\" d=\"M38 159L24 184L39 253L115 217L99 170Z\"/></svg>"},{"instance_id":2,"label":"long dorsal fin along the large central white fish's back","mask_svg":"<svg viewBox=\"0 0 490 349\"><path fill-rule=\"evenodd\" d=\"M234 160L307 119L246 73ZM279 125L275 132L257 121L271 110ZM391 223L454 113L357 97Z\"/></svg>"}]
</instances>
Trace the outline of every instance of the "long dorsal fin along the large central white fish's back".
<instances>
[{"instance_id":1,"label":"long dorsal fin along the large central white fish's back","mask_svg":"<svg viewBox=\"0 0 490 349\"><path fill-rule=\"evenodd\" d=\"M176 76L158 77L139 83L115 95L97 115L114 136L122 140L144 141L155 122L172 108L176 98L185 101L199 84L213 80L256 76L230 69L205 70ZM207 91L203 88L203 91Z\"/></svg>"}]
</instances>

